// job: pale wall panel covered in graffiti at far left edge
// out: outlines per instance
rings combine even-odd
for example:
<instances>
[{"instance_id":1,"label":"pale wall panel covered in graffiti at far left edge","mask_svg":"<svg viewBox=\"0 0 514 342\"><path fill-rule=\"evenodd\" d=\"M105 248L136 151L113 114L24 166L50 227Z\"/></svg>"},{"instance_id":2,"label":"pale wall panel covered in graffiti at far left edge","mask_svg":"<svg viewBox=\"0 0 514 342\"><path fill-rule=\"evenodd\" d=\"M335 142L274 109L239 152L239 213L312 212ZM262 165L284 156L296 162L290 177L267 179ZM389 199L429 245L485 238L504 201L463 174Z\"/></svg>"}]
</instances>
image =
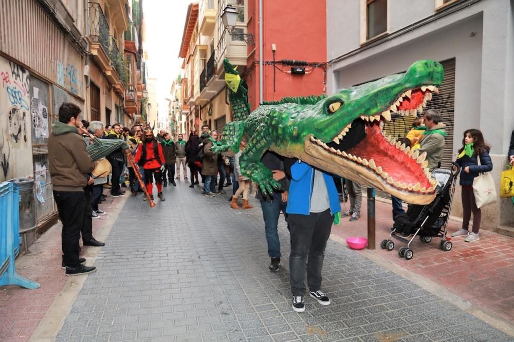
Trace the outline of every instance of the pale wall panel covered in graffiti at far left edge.
<instances>
[{"instance_id":1,"label":"pale wall panel covered in graffiti at far left edge","mask_svg":"<svg viewBox=\"0 0 514 342\"><path fill-rule=\"evenodd\" d=\"M0 182L32 175L30 75L0 58Z\"/></svg>"}]
</instances>

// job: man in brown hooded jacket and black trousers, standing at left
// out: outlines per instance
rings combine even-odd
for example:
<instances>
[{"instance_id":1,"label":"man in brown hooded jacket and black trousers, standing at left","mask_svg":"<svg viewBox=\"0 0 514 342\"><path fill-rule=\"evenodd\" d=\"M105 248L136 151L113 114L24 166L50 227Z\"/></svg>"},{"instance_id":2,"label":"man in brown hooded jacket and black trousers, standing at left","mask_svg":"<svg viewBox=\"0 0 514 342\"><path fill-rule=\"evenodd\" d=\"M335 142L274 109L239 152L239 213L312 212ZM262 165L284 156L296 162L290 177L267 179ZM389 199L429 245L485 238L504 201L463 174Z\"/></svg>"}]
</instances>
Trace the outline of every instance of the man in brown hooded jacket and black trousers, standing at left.
<instances>
[{"instance_id":1,"label":"man in brown hooded jacket and black trousers, standing at left","mask_svg":"<svg viewBox=\"0 0 514 342\"><path fill-rule=\"evenodd\" d=\"M79 259L79 239L86 207L84 187L93 184L92 172L97 162L87 154L86 144L79 135L81 109L70 102L59 108L59 121L52 125L48 137L48 162L53 187L53 198L63 224L61 233L66 275L94 272Z\"/></svg>"}]
</instances>

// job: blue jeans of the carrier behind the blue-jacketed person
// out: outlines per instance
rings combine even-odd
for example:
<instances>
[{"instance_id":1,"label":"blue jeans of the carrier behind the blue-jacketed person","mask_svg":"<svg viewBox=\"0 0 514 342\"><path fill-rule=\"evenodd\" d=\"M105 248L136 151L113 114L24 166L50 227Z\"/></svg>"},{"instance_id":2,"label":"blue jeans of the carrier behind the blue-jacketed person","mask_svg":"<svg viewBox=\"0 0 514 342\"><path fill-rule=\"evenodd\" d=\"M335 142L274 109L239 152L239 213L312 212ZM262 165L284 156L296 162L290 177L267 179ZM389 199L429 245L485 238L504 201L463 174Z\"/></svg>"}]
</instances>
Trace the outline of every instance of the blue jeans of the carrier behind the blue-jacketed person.
<instances>
[{"instance_id":1,"label":"blue jeans of the carrier behind the blue-jacketed person","mask_svg":"<svg viewBox=\"0 0 514 342\"><path fill-rule=\"evenodd\" d=\"M272 201L261 201L262 215L264 218L264 229L266 231L266 241L268 242L268 255L271 258L280 258L280 240L277 226L279 223L280 211L286 217L286 205L282 202L282 194L274 193ZM305 270L305 268L304 268Z\"/></svg>"}]
</instances>

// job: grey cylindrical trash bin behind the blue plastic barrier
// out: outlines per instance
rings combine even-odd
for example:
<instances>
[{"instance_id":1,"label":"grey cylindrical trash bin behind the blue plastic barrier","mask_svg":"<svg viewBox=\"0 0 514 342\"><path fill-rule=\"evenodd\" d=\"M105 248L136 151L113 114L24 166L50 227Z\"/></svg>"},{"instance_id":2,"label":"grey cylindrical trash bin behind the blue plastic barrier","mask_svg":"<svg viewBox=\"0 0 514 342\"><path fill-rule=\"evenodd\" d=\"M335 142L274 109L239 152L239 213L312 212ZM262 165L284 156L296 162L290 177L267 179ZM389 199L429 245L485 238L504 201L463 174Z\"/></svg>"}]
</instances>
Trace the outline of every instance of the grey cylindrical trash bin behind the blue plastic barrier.
<instances>
[{"instance_id":1,"label":"grey cylindrical trash bin behind the blue plastic barrier","mask_svg":"<svg viewBox=\"0 0 514 342\"><path fill-rule=\"evenodd\" d=\"M32 232L36 227L34 180L32 178L14 178L9 182L16 183L20 190L20 231L16 231L15 234L23 236L25 252L28 253L26 234ZM17 244L14 255L18 254L20 254L20 245Z\"/></svg>"}]
</instances>

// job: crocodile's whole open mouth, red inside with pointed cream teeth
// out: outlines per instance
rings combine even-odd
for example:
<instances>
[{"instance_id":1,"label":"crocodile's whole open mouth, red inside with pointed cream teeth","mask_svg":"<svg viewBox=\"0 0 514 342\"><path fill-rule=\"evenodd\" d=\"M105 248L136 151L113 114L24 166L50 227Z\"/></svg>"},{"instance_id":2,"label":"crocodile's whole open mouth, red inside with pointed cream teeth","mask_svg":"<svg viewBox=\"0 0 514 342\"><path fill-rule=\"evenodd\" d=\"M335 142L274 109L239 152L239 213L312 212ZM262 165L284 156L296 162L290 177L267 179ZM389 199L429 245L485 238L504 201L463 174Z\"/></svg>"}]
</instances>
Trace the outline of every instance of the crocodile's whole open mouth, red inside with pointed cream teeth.
<instances>
[{"instance_id":1,"label":"crocodile's whole open mouth, red inside with pointed cream teeth","mask_svg":"<svg viewBox=\"0 0 514 342\"><path fill-rule=\"evenodd\" d=\"M416 116L423 112L435 86L422 86L401 93L396 101L385 108L380 115L364 115L343 127L332 142L325 143L311 136L311 143L331 154L366 168L378 178L400 191L432 194L437 181L432 178L425 160L426 153L406 147L395 138L385 137L380 122L390 121L392 113Z\"/></svg>"}]
</instances>

